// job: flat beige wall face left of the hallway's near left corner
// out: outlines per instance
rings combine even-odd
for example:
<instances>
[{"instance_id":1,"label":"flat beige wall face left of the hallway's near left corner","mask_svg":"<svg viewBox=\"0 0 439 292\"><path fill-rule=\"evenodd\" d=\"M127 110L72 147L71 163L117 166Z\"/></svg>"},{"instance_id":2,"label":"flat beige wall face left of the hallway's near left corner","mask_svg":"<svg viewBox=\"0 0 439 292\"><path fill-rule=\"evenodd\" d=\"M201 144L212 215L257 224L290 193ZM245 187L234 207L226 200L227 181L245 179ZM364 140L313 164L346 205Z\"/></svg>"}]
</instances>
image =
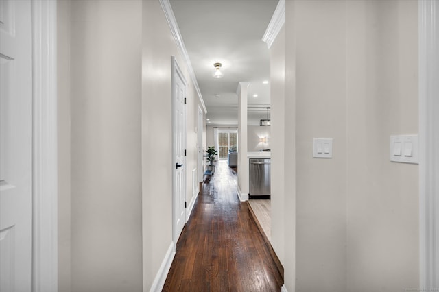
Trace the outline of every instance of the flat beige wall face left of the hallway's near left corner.
<instances>
[{"instance_id":1,"label":"flat beige wall face left of the hallway's near left corner","mask_svg":"<svg viewBox=\"0 0 439 292\"><path fill-rule=\"evenodd\" d=\"M142 289L141 21L71 1L72 291Z\"/></svg>"}]
</instances>

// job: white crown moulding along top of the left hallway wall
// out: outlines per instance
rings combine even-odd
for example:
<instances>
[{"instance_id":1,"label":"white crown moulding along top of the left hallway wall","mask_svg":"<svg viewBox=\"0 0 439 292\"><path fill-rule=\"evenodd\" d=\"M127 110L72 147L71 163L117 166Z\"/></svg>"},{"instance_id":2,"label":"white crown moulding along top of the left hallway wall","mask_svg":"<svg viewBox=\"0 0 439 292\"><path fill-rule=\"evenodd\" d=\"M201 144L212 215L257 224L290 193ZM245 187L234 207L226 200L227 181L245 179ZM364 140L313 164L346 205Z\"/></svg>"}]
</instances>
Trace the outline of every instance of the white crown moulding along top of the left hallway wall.
<instances>
[{"instance_id":1,"label":"white crown moulding along top of the left hallway wall","mask_svg":"<svg viewBox=\"0 0 439 292\"><path fill-rule=\"evenodd\" d=\"M174 16L174 12L171 8L171 3L169 3L169 0L159 0L159 2L162 6L163 12L165 12L167 23L169 23L169 27L171 28L174 39L176 40L177 47L180 50L183 58L185 59L187 71L189 71L189 75L191 76L191 80L193 82L193 86L195 87L195 91L197 92L198 99L200 99L200 104L204 109L204 113L207 114L207 109L201 95L200 86L198 86L197 77L195 76L195 72L193 71L191 59L189 58L189 55L186 51L185 43L183 42L183 38L180 34L180 29L178 28L176 17Z\"/></svg>"}]
</instances>

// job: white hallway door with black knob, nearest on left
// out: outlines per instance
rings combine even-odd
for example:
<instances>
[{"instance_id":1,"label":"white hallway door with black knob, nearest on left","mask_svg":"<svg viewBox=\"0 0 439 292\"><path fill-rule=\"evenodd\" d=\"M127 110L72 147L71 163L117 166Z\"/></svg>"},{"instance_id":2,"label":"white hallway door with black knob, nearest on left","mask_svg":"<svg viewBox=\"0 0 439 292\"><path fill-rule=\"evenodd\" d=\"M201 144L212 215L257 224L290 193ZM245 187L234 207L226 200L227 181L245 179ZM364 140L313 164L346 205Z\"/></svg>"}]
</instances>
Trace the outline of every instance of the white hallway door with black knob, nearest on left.
<instances>
[{"instance_id":1,"label":"white hallway door with black knob, nearest on left","mask_svg":"<svg viewBox=\"0 0 439 292\"><path fill-rule=\"evenodd\" d=\"M185 80L173 58L174 84L172 93L174 128L174 245L177 244L186 223L186 175L185 175Z\"/></svg>"}]
</instances>

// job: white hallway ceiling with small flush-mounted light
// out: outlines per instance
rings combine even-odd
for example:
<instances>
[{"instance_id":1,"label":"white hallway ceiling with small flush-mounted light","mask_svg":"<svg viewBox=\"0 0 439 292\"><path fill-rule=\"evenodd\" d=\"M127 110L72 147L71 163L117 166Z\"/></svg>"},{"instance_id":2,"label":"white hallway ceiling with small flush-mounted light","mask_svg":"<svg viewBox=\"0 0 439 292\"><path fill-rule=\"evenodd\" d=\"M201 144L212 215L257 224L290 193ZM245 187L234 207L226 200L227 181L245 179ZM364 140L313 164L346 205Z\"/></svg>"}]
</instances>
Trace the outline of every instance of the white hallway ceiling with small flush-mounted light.
<instances>
[{"instance_id":1,"label":"white hallway ceiling with small flush-mounted light","mask_svg":"<svg viewBox=\"0 0 439 292\"><path fill-rule=\"evenodd\" d=\"M248 124L270 106L270 53L261 39L278 0L170 0L211 125L237 125L237 87L248 87ZM224 77L214 78L222 63ZM218 96L219 95L219 96ZM253 95L257 95L254 97Z\"/></svg>"}]
</instances>

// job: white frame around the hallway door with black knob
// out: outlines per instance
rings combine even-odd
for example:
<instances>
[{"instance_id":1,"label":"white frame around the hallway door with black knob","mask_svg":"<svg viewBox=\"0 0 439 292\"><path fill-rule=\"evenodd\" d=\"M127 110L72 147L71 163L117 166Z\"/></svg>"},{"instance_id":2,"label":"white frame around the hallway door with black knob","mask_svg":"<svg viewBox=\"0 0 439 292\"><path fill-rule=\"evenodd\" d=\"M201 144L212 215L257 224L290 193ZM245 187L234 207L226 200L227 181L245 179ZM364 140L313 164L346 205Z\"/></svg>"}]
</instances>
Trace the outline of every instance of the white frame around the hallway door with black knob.
<instances>
[{"instance_id":1,"label":"white frame around the hallway door with black knob","mask_svg":"<svg viewBox=\"0 0 439 292\"><path fill-rule=\"evenodd\" d=\"M178 238L180 237L180 234L177 234L177 230L176 230L176 226L175 226L175 222L176 222L176 212L177 212L177 208L176 208L176 186L175 186L175 178L174 178L174 168L176 165L176 161L174 160L175 158L175 144L174 144L174 136L175 136L175 126L174 126L174 113L175 113L175 104L174 104L174 100L175 100L175 92L176 92L176 76L180 76L182 82L185 84L185 91L186 91L186 86L187 86L187 82L185 79L185 75L183 75L180 66L178 66L177 61L175 56L171 57L172 60L172 86L171 86L171 90L172 90L172 94L171 94L171 104L172 104L172 241L174 242L174 250L177 247L177 241ZM184 140L184 144L185 144L185 149L186 149L186 107L185 107L185 126L183 127L185 129L184 134L183 134L183 140ZM186 167L186 156L185 156L185 160L183 161L183 195L185 196L185 200L186 200L186 186L187 186L187 167ZM187 221L187 209L185 208L185 223Z\"/></svg>"}]
</instances>

